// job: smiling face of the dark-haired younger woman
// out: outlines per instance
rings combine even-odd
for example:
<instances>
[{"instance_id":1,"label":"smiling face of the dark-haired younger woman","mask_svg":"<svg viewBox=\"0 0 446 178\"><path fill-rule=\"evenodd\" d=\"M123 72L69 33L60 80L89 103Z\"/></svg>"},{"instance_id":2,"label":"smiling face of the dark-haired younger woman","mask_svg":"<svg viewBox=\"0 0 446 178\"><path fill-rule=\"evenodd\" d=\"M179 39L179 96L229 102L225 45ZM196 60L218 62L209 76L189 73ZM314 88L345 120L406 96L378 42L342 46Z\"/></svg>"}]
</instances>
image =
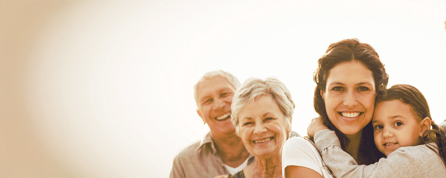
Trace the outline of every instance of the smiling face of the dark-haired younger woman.
<instances>
[{"instance_id":1,"label":"smiling face of the dark-haired younger woman","mask_svg":"<svg viewBox=\"0 0 446 178\"><path fill-rule=\"evenodd\" d=\"M372 120L375 94L372 71L357 61L334 66L321 91L328 118L346 135L358 133Z\"/></svg>"}]
</instances>

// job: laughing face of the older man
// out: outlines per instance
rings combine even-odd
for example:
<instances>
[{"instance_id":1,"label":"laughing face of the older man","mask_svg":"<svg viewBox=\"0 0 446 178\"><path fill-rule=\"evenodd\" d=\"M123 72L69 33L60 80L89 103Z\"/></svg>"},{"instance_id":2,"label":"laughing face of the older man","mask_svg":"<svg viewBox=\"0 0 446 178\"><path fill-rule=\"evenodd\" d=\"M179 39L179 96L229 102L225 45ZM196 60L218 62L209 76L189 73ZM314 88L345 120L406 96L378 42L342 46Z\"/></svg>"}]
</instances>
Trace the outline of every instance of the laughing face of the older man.
<instances>
[{"instance_id":1,"label":"laughing face of the older man","mask_svg":"<svg viewBox=\"0 0 446 178\"><path fill-rule=\"evenodd\" d=\"M211 129L212 135L235 132L231 123L231 103L235 88L226 78L216 75L198 83L197 113Z\"/></svg>"}]
</instances>

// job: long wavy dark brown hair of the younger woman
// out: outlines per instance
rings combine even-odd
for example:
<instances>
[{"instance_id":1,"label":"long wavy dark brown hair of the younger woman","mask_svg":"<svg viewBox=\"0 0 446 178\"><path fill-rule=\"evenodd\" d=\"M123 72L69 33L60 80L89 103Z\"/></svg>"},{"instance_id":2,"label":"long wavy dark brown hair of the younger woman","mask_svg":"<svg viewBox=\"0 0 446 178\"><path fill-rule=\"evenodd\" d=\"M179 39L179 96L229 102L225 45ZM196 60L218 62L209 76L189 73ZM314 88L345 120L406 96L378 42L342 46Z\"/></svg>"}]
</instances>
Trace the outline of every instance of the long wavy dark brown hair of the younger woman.
<instances>
[{"instance_id":1,"label":"long wavy dark brown hair of the younger woman","mask_svg":"<svg viewBox=\"0 0 446 178\"><path fill-rule=\"evenodd\" d=\"M313 74L313 80L317 84L314 89L314 110L321 116L323 124L330 130L336 132L336 135L341 142L341 147L344 150L346 146L350 144L350 140L328 119L321 91L325 92L326 79L330 69L339 63L351 61L361 62L368 68L368 70L372 71L376 94L383 93L388 83L388 75L384 69L384 65L380 61L378 53L376 53L372 46L367 43L361 43L356 38L330 44L325 54L319 58L318 69ZM376 145L373 141L373 128L371 123L363 128L359 153L364 158L363 164L374 163L378 161L380 157L384 157L384 155L376 149Z\"/></svg>"}]
</instances>

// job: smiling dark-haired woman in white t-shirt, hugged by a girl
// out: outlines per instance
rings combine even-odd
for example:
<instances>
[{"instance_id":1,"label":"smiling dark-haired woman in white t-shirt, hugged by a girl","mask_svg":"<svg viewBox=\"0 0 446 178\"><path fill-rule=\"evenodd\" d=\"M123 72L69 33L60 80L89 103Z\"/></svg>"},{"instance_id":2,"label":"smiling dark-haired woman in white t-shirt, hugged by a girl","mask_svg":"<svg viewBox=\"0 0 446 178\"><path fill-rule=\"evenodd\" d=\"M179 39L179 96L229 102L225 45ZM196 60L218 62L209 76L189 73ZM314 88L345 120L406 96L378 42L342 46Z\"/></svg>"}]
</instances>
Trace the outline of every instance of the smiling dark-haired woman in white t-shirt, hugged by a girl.
<instances>
[{"instance_id":1,"label":"smiling dark-haired woman in white t-shirt, hugged by a girl","mask_svg":"<svg viewBox=\"0 0 446 178\"><path fill-rule=\"evenodd\" d=\"M376 95L386 88L388 75L375 49L357 39L331 44L318 60L314 82L314 109L323 124L336 132L342 149L358 164L368 165L383 157L373 141L370 120ZM332 177L308 139L286 141L282 159L286 178Z\"/></svg>"}]
</instances>

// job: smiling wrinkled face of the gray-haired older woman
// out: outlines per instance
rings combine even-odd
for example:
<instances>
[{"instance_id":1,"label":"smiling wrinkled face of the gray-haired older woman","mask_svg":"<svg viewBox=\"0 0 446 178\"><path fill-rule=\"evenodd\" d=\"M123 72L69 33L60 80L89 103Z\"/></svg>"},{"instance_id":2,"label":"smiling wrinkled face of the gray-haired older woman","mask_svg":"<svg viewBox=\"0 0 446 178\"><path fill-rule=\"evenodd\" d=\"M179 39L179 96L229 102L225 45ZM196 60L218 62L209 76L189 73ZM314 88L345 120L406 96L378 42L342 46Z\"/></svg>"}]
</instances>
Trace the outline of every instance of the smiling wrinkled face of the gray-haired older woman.
<instances>
[{"instance_id":1,"label":"smiling wrinkled face of the gray-haired older woman","mask_svg":"<svg viewBox=\"0 0 446 178\"><path fill-rule=\"evenodd\" d=\"M249 153L259 158L281 154L291 126L270 95L262 95L240 111L239 136Z\"/></svg>"}]
</instances>

